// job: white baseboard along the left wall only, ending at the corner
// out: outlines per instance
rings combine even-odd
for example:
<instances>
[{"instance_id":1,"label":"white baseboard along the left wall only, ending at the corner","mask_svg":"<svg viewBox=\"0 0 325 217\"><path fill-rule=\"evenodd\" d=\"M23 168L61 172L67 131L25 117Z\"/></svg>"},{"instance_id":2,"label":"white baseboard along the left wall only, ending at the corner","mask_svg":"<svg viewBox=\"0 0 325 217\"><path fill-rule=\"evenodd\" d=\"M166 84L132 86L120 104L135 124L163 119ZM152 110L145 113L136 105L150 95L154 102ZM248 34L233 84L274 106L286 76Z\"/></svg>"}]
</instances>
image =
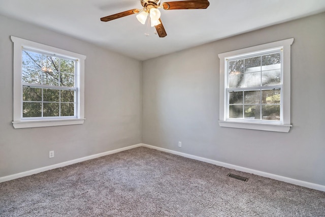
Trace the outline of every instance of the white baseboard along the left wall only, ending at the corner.
<instances>
[{"instance_id":1,"label":"white baseboard along the left wall only, ending at the corner","mask_svg":"<svg viewBox=\"0 0 325 217\"><path fill-rule=\"evenodd\" d=\"M59 163L59 164L50 165L50 166L47 166L47 167L42 167L42 168L38 168L38 169L34 169L34 170L28 170L28 171L25 171L25 172L16 173L16 174L13 174L13 175L0 177L0 183L4 182L4 181L10 181L10 180L13 180L13 179L16 179L16 178L21 178L21 177L24 177L24 176L44 172L44 171L47 171L47 170L52 170L52 169L56 169L56 168L59 168L59 167L64 167L64 166L68 166L68 165L71 165L71 164L76 164L76 163L79 163L79 162L88 161L88 160L95 159L95 158L100 158L100 157L103 157L103 156L106 156L106 155L109 155L109 154L117 153L117 152L120 152L120 151L125 151L125 150L128 150L128 149L132 149L132 148L136 148L136 147L140 147L140 146L142 146L142 144L131 145L131 146L127 146L127 147L124 147L124 148L118 148L118 149L115 149L115 150L106 151L106 152L102 152L102 153L98 153L98 154L93 154L91 156L78 158L78 159L75 159L75 160L66 161L66 162L62 162L62 163Z\"/></svg>"}]
</instances>

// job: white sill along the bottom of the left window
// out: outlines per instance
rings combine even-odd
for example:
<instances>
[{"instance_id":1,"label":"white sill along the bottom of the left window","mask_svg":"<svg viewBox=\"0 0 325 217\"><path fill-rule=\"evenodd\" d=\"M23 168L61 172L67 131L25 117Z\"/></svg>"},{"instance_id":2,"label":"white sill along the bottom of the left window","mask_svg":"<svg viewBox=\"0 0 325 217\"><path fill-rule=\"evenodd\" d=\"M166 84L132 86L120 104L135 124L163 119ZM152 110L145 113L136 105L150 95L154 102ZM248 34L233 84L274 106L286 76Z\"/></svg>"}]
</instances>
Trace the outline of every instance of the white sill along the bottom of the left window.
<instances>
[{"instance_id":1,"label":"white sill along the bottom of the left window","mask_svg":"<svg viewBox=\"0 0 325 217\"><path fill-rule=\"evenodd\" d=\"M79 119L56 119L56 120L21 120L12 121L15 129L20 128L40 128L40 127L54 127L64 125L82 125L85 118Z\"/></svg>"}]
</instances>

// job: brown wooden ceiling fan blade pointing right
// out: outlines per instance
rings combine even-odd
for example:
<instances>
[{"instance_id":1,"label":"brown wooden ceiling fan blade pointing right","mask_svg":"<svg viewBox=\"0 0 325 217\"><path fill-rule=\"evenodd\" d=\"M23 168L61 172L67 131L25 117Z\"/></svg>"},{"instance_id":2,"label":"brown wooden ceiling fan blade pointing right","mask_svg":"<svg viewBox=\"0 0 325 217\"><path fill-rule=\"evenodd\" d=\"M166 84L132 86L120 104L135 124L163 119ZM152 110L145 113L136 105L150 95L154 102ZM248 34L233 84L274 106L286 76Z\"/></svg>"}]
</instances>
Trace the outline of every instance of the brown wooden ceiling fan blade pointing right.
<instances>
[{"instance_id":1,"label":"brown wooden ceiling fan blade pointing right","mask_svg":"<svg viewBox=\"0 0 325 217\"><path fill-rule=\"evenodd\" d=\"M208 0L188 0L178 2L164 2L163 8L165 10L177 9L206 9L210 5Z\"/></svg>"}]
</instances>

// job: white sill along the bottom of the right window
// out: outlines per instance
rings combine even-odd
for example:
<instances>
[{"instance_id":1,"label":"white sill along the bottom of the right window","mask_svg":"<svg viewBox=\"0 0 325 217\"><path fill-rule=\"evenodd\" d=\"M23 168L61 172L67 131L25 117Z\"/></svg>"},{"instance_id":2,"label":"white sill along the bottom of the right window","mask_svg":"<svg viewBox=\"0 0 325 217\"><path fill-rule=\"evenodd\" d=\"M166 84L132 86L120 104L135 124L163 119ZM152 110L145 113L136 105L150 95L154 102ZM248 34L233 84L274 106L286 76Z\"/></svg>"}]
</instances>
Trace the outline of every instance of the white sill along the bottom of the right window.
<instances>
[{"instance_id":1,"label":"white sill along the bottom of the right window","mask_svg":"<svg viewBox=\"0 0 325 217\"><path fill-rule=\"evenodd\" d=\"M292 125L274 125L268 123L251 123L251 122L234 122L219 120L220 127L226 128L241 128L249 130L262 130L262 131L273 131L288 133Z\"/></svg>"}]
</instances>

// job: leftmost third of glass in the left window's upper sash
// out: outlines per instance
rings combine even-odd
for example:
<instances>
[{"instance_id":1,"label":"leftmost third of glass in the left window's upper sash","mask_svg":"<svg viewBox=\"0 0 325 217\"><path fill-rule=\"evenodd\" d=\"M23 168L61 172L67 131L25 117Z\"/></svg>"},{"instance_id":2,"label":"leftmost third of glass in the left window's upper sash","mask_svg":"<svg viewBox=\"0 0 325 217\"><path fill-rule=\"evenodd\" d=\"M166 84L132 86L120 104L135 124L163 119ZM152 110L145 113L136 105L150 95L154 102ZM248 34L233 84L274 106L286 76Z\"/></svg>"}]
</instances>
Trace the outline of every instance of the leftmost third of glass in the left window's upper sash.
<instances>
[{"instance_id":1,"label":"leftmost third of glass in the left window's upper sash","mask_svg":"<svg viewBox=\"0 0 325 217\"><path fill-rule=\"evenodd\" d=\"M32 84L42 83L42 54L22 51L22 81Z\"/></svg>"}]
</instances>

